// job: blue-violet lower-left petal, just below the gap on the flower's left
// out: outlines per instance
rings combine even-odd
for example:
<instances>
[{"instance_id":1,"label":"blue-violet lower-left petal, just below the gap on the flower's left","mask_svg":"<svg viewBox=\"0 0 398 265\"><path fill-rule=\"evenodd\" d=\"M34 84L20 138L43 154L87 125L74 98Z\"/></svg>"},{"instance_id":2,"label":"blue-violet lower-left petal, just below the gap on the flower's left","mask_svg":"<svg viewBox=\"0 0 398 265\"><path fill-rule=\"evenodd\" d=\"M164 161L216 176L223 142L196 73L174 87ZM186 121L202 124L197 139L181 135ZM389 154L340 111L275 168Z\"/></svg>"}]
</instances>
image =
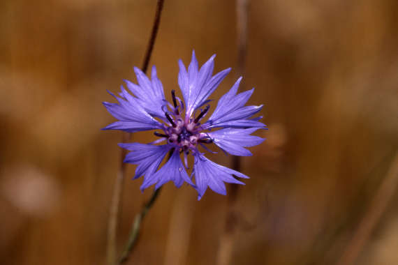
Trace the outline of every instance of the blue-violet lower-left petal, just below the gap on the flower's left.
<instances>
[{"instance_id":1,"label":"blue-violet lower-left petal, just below the gap on the flower's left","mask_svg":"<svg viewBox=\"0 0 398 265\"><path fill-rule=\"evenodd\" d=\"M131 151L126 155L123 162L138 165L137 169L135 169L135 176L133 179L138 179L140 176L145 175L145 180L150 179L152 174L156 172L166 153L171 148L168 144L152 145L131 143L119 144L119 146Z\"/></svg>"}]
</instances>

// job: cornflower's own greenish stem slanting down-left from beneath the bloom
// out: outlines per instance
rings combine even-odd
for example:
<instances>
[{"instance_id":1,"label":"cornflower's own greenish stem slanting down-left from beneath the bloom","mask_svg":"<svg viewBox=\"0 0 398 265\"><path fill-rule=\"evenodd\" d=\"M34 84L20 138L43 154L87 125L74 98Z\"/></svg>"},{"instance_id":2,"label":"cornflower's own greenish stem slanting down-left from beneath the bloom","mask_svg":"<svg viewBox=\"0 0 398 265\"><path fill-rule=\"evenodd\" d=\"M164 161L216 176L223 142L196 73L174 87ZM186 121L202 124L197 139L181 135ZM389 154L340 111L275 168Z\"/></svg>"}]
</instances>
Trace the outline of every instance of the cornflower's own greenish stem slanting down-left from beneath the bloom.
<instances>
[{"instance_id":1,"label":"cornflower's own greenish stem slanting down-left from beneath the bloom","mask_svg":"<svg viewBox=\"0 0 398 265\"><path fill-rule=\"evenodd\" d=\"M138 235L140 234L141 222L145 218L145 215L147 215L149 209L151 209L152 205L156 201L156 198L158 197L160 191L161 188L154 190L154 193L152 193L152 197L142 207L141 212L135 215L133 226L131 227L131 232L130 235L128 236L128 241L119 259L119 264L123 264L128 260L128 256L130 255L131 250L133 250L135 242L138 239Z\"/></svg>"}]
</instances>

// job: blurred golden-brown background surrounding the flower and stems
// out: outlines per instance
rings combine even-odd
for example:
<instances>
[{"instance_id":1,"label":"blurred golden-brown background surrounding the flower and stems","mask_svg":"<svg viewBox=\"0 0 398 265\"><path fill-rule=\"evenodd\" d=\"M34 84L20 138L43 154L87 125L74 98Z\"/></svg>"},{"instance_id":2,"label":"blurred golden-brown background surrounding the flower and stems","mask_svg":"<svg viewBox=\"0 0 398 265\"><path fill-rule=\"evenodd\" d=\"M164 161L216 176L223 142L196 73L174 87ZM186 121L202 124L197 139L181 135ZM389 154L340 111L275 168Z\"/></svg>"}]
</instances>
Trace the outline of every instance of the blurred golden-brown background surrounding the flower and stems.
<instances>
[{"instance_id":1,"label":"blurred golden-brown background surrounding the flower and stems","mask_svg":"<svg viewBox=\"0 0 398 265\"><path fill-rule=\"evenodd\" d=\"M122 134L102 106L135 82L156 1L0 1L0 264L104 264ZM265 104L230 264L336 264L386 174L398 132L398 2L252 0L244 87ZM151 65L166 95L191 51L237 78L235 1L166 0ZM150 142L150 133L134 140ZM230 157L214 158L222 165ZM121 250L141 193L128 165ZM382 192L383 193L383 192ZM386 195L387 196L387 195ZM398 264L398 195L356 264ZM217 264L227 197L165 185L128 264Z\"/></svg>"}]
</instances>

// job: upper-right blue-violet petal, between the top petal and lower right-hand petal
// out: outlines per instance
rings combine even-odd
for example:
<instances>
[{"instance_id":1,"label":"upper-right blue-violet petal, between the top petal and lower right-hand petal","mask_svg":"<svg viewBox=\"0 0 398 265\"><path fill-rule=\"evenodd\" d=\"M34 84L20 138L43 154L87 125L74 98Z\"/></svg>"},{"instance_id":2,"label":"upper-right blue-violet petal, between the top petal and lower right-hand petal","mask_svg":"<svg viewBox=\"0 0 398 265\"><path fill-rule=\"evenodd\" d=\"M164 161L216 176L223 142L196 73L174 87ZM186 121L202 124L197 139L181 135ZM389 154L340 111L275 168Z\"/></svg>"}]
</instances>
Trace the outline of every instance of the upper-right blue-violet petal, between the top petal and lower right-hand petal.
<instances>
[{"instance_id":1,"label":"upper-right blue-violet petal, between the top petal and lower right-hand petal","mask_svg":"<svg viewBox=\"0 0 398 265\"><path fill-rule=\"evenodd\" d=\"M237 94L241 80L242 77L237 79L237 82L235 82L230 91L220 98L212 116L203 124L203 128L209 129L228 126L235 128L265 127L263 123L258 122L258 119L249 119L258 113L263 108L263 105L244 106L253 94L254 89Z\"/></svg>"}]
</instances>

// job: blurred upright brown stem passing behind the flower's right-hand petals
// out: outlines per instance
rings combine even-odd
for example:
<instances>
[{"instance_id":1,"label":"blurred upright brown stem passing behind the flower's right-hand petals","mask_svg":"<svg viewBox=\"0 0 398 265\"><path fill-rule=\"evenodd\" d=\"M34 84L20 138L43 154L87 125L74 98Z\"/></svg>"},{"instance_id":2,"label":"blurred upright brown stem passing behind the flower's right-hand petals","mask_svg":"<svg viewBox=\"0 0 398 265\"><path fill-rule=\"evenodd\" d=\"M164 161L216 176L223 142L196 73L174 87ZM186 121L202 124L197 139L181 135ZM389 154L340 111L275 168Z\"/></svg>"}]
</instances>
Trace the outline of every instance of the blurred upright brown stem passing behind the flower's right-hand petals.
<instances>
[{"instance_id":1,"label":"blurred upright brown stem passing behind the flower's right-hand petals","mask_svg":"<svg viewBox=\"0 0 398 265\"><path fill-rule=\"evenodd\" d=\"M236 22L237 22L237 73L244 75L246 68L246 47L247 47L247 9L249 0L236 0ZM242 89L243 85L240 89ZM233 169L240 171L241 160L238 156L232 157ZM230 264L232 258L235 230L239 222L236 213L236 200L239 185L232 184L228 188L228 206L224 232L221 235L219 252L217 257L218 265Z\"/></svg>"}]
</instances>

